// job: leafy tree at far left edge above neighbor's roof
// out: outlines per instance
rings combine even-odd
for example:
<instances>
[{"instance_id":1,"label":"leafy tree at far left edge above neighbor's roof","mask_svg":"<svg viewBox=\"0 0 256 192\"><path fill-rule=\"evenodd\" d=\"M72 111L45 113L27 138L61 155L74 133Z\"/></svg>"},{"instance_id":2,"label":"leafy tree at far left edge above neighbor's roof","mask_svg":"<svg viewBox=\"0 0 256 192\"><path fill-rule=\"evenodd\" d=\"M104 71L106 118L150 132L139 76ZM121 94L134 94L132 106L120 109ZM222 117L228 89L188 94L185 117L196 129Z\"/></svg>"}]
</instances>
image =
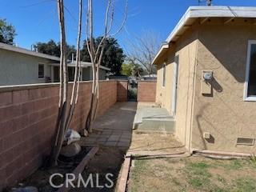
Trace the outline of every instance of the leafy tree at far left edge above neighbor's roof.
<instances>
[{"instance_id":1,"label":"leafy tree at far left edge above neighbor's roof","mask_svg":"<svg viewBox=\"0 0 256 192\"><path fill-rule=\"evenodd\" d=\"M0 42L14 45L15 28L6 22L6 19L0 18Z\"/></svg>"}]
</instances>

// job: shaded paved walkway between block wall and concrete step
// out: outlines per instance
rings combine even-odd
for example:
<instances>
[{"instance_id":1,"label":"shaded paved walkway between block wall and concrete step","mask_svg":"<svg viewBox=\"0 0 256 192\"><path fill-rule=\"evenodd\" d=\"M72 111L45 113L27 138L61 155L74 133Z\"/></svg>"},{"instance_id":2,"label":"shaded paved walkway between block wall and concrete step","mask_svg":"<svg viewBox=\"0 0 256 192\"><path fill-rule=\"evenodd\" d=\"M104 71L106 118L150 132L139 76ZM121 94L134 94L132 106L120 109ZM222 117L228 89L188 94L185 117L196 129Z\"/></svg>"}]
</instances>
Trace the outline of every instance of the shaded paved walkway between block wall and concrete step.
<instances>
[{"instance_id":1,"label":"shaded paved walkway between block wall and concrete step","mask_svg":"<svg viewBox=\"0 0 256 192\"><path fill-rule=\"evenodd\" d=\"M127 150L130 146L137 102L117 102L94 122L94 132L82 137L82 146L115 146Z\"/></svg>"}]
</instances>

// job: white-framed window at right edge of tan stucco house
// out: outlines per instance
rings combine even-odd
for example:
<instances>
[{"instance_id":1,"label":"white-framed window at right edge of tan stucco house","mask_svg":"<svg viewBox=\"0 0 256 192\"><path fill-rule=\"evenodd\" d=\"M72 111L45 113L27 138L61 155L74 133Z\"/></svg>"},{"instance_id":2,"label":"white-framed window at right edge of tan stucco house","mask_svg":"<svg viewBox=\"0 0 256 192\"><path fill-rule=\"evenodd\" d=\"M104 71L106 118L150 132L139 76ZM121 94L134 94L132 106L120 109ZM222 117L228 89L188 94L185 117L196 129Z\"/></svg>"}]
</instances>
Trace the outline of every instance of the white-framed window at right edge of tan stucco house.
<instances>
[{"instance_id":1,"label":"white-framed window at right edge of tan stucco house","mask_svg":"<svg viewBox=\"0 0 256 192\"><path fill-rule=\"evenodd\" d=\"M256 40L248 41L244 101L256 101Z\"/></svg>"}]
</instances>

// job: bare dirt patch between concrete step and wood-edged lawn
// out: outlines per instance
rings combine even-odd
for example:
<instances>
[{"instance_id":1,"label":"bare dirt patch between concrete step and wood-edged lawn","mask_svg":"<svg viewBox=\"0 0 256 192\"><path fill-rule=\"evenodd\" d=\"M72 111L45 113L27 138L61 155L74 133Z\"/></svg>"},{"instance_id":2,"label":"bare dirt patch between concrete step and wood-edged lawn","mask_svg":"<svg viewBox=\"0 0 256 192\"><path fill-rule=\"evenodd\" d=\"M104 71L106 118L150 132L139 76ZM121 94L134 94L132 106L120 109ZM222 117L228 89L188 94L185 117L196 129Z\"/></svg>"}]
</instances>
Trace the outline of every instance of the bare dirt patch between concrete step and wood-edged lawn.
<instances>
[{"instance_id":1,"label":"bare dirt patch between concrete step and wood-edged lawn","mask_svg":"<svg viewBox=\"0 0 256 192\"><path fill-rule=\"evenodd\" d=\"M174 138L174 134L134 130L128 152L134 155L168 155L185 153L186 148Z\"/></svg>"}]
</instances>

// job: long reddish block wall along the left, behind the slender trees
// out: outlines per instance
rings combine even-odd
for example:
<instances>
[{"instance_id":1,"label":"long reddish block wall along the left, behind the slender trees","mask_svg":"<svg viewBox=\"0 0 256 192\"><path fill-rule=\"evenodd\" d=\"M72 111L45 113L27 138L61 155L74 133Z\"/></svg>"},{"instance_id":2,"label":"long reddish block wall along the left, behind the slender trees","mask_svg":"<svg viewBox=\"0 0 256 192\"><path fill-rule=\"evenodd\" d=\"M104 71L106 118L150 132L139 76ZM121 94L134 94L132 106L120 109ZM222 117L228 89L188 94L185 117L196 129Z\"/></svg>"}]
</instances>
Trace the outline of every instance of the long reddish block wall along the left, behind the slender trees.
<instances>
[{"instance_id":1,"label":"long reddish block wall along the left, behind the slender trees","mask_svg":"<svg viewBox=\"0 0 256 192\"><path fill-rule=\"evenodd\" d=\"M71 127L84 126L91 82L80 84ZM71 85L69 86L71 90ZM117 102L117 82L102 81L97 115ZM37 170L50 153L58 114L58 84L0 88L0 191Z\"/></svg>"}]
</instances>

